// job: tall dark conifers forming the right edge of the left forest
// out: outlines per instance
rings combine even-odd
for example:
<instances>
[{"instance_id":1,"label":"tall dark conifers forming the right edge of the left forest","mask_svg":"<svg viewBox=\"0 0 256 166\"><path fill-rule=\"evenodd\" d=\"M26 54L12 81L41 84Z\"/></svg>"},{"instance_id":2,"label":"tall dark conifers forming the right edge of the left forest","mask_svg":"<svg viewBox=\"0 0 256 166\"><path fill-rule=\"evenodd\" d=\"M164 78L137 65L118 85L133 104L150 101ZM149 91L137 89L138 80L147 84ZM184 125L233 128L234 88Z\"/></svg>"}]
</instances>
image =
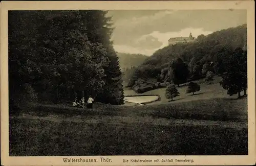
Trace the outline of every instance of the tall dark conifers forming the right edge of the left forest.
<instances>
[{"instance_id":1,"label":"tall dark conifers forming the right edge of the left forest","mask_svg":"<svg viewBox=\"0 0 256 166\"><path fill-rule=\"evenodd\" d=\"M94 96L97 97L96 101L116 105L123 104L122 73L117 54L110 40L113 32L111 17L106 16L107 11L101 10L88 10L81 13L84 25L88 27L89 40L94 43L101 43L110 60L109 65L104 66L104 91L96 93L97 91L94 90L93 92Z\"/></svg>"}]
</instances>

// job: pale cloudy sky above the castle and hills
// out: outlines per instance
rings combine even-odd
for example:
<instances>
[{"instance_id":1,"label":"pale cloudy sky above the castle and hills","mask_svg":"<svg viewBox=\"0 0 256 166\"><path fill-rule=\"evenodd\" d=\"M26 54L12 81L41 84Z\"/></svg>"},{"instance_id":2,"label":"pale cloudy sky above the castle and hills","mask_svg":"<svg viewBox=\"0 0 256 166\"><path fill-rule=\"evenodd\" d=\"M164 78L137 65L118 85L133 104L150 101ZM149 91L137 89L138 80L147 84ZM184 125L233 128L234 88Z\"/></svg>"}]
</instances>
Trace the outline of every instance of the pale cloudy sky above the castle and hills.
<instances>
[{"instance_id":1,"label":"pale cloudy sky above the castle and hills","mask_svg":"<svg viewBox=\"0 0 256 166\"><path fill-rule=\"evenodd\" d=\"M246 23L246 10L112 10L117 52L151 56L170 37L194 37Z\"/></svg>"}]
</instances>

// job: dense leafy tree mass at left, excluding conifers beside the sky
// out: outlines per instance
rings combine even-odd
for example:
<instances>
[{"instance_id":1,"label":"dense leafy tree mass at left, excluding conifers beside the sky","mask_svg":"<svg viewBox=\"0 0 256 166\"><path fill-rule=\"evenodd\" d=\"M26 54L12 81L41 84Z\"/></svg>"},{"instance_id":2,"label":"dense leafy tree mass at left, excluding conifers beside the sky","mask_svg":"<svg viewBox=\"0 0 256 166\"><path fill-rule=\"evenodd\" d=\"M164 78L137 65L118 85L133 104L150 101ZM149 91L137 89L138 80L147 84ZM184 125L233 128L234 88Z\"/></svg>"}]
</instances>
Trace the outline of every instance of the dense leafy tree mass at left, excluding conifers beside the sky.
<instances>
[{"instance_id":1,"label":"dense leafy tree mass at left, excluding conifers beside the sky","mask_svg":"<svg viewBox=\"0 0 256 166\"><path fill-rule=\"evenodd\" d=\"M25 85L52 102L70 101L76 91L103 90L108 53L88 39L79 11L12 11L9 18L12 101Z\"/></svg>"}]
</instances>

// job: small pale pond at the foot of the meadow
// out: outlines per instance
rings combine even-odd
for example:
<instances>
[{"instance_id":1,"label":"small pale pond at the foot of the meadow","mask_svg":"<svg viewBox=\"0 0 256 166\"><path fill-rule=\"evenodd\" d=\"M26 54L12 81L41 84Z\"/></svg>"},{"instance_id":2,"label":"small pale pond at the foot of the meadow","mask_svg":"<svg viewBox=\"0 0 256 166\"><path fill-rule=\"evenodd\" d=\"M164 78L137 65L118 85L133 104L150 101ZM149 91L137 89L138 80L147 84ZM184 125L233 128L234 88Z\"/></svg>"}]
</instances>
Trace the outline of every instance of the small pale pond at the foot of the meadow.
<instances>
[{"instance_id":1,"label":"small pale pond at the foot of the meadow","mask_svg":"<svg viewBox=\"0 0 256 166\"><path fill-rule=\"evenodd\" d=\"M125 102L129 103L138 103L146 104L159 100L160 97L157 95L148 95L148 96L126 96L124 97Z\"/></svg>"}]
</instances>

